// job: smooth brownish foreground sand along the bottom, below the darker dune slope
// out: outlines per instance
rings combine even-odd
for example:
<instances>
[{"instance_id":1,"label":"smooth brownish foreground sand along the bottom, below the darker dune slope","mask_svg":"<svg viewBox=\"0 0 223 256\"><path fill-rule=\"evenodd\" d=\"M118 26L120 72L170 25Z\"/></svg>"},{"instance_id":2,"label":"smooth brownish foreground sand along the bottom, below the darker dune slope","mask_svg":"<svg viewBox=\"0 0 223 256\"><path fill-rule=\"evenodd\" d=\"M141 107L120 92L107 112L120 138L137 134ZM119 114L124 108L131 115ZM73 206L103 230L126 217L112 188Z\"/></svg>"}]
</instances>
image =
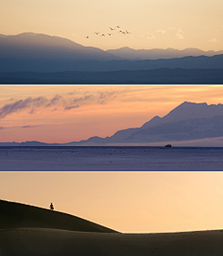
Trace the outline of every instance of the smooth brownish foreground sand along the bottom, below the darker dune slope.
<instances>
[{"instance_id":1,"label":"smooth brownish foreground sand along the bottom, below the darker dune slope","mask_svg":"<svg viewBox=\"0 0 223 256\"><path fill-rule=\"evenodd\" d=\"M0 230L1 256L218 256L223 231L106 234L43 228Z\"/></svg>"}]
</instances>

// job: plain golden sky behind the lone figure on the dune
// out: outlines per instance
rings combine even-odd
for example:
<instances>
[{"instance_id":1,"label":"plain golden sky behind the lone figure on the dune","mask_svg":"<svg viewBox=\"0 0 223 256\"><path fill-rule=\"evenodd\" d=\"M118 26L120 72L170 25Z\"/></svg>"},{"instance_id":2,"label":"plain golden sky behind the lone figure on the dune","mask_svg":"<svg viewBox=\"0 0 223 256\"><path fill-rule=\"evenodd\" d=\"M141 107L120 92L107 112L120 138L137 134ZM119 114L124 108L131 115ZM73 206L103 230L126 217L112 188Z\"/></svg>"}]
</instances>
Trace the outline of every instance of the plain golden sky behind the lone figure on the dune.
<instances>
[{"instance_id":1,"label":"plain golden sky behind the lone figure on the dune","mask_svg":"<svg viewBox=\"0 0 223 256\"><path fill-rule=\"evenodd\" d=\"M0 172L1 199L121 232L223 228L223 172Z\"/></svg>"}]
</instances>

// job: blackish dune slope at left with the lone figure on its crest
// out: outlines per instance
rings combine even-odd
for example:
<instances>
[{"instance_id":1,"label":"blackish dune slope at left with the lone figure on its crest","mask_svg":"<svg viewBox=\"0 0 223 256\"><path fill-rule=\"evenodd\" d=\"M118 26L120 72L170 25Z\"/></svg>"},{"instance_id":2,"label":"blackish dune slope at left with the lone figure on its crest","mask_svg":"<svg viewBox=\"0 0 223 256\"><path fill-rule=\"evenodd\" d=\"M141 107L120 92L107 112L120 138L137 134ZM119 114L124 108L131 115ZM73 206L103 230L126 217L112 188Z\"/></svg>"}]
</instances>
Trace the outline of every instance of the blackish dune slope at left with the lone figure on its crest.
<instances>
[{"instance_id":1,"label":"blackish dune slope at left with the lone figure on its crest","mask_svg":"<svg viewBox=\"0 0 223 256\"><path fill-rule=\"evenodd\" d=\"M37 227L82 232L118 233L97 223L56 210L42 209L5 200L0 200L0 209L0 229Z\"/></svg>"}]
</instances>

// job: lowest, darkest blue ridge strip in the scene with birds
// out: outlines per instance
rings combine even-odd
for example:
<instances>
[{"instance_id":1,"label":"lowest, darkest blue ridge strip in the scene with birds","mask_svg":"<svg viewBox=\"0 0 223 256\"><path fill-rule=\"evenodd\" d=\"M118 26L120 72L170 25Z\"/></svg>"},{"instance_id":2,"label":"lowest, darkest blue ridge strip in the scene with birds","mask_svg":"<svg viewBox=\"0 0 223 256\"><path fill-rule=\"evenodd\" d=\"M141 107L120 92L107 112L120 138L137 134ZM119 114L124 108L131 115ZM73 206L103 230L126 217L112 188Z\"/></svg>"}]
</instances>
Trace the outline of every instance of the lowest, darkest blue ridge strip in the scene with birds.
<instances>
[{"instance_id":1,"label":"lowest, darkest blue ridge strip in the scene with birds","mask_svg":"<svg viewBox=\"0 0 223 256\"><path fill-rule=\"evenodd\" d=\"M0 73L2 85L222 85L223 69L153 69L110 72Z\"/></svg>"}]
</instances>

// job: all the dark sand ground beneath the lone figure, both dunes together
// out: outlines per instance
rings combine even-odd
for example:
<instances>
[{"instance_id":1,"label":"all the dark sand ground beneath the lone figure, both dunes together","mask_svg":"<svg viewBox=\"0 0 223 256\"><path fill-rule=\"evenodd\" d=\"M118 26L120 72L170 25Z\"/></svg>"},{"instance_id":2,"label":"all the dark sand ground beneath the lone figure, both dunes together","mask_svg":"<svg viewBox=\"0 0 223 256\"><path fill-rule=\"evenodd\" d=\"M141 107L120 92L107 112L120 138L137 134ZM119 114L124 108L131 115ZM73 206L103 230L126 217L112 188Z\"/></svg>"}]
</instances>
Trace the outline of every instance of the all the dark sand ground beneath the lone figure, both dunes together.
<instances>
[{"instance_id":1,"label":"all the dark sand ground beneath the lone figure, both dunes together","mask_svg":"<svg viewBox=\"0 0 223 256\"><path fill-rule=\"evenodd\" d=\"M223 255L223 230L122 234L70 214L5 200L0 200L0 220L1 256Z\"/></svg>"}]
</instances>

